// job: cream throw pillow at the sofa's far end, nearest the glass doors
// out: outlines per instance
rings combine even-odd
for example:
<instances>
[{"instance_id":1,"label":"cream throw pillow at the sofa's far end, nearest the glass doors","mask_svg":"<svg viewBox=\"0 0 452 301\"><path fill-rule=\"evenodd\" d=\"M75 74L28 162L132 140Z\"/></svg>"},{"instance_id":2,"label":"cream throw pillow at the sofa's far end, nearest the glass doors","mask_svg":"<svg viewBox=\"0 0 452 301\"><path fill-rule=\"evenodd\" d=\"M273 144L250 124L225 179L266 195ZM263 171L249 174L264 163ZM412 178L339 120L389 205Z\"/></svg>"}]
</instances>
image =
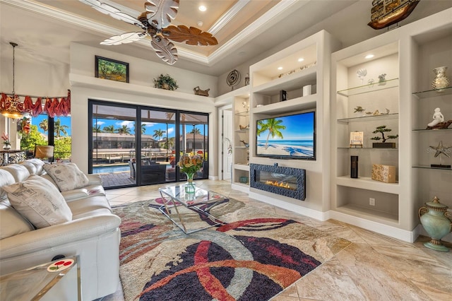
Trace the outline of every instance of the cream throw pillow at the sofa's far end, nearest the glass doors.
<instances>
[{"instance_id":1,"label":"cream throw pillow at the sofa's far end, nearest the glass doors","mask_svg":"<svg viewBox=\"0 0 452 301\"><path fill-rule=\"evenodd\" d=\"M69 191L85 187L88 177L73 163L46 164L44 170L52 177L60 191Z\"/></svg>"}]
</instances>

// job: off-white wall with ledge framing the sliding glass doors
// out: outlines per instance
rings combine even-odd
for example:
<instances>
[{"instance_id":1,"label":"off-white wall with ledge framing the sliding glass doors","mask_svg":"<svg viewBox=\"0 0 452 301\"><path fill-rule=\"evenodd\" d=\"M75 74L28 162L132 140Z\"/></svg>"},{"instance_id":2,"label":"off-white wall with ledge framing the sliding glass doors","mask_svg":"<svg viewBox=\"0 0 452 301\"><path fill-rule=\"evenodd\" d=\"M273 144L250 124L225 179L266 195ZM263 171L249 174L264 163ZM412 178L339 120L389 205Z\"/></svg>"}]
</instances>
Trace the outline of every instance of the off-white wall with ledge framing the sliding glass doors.
<instances>
[{"instance_id":1,"label":"off-white wall with ledge framing the sliding glass doors","mask_svg":"<svg viewBox=\"0 0 452 301\"><path fill-rule=\"evenodd\" d=\"M129 62L130 83L120 83L95 78L95 55ZM213 138L218 131L217 111L213 98L194 95L196 85L215 86L217 78L201 73L164 66L153 62L128 57L95 47L73 43L71 45L71 117L72 117L72 162L84 172L88 171L88 99L107 100L134 105L174 108L209 115L209 152L217 153ZM153 77L169 73L179 85L176 91L153 88ZM218 175L216 156L210 156L211 177Z\"/></svg>"}]
</instances>

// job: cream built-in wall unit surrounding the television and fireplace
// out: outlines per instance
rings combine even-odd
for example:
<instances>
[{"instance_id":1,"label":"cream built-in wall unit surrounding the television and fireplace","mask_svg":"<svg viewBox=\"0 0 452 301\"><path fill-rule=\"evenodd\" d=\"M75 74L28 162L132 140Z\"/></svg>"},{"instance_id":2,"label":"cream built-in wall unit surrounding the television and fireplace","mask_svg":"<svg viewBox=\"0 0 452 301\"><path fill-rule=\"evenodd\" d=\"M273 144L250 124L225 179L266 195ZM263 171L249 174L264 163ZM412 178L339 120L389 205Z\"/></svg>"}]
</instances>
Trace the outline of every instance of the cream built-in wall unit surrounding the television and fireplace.
<instances>
[{"instance_id":1,"label":"cream built-in wall unit surrounding the television and fireplace","mask_svg":"<svg viewBox=\"0 0 452 301\"><path fill-rule=\"evenodd\" d=\"M295 167L307 170L307 198L305 201L273 194L259 189L250 189L250 196L268 201L276 206L309 215L307 208L320 215L328 211L329 187L329 129L325 119L329 118L329 70L331 52L340 48L340 43L322 30L306 39L273 54L250 67L250 161L260 165ZM310 93L303 90L310 85ZM282 91L287 93L282 97ZM316 111L316 160L283 160L263 158L256 155L256 122L263 118L280 117L305 110ZM295 209L294 209L295 208Z\"/></svg>"}]
</instances>

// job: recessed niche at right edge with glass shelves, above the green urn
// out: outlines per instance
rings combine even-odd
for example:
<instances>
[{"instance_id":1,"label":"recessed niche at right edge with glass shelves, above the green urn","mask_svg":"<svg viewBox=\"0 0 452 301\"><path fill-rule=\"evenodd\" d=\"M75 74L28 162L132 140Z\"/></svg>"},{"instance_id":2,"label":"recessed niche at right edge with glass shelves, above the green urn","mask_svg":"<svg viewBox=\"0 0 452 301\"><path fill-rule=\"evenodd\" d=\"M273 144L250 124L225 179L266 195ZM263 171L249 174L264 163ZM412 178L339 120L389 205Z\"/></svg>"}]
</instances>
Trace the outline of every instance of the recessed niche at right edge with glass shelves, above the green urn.
<instances>
[{"instance_id":1,"label":"recessed niche at right edge with glass shelves, above the green urn","mask_svg":"<svg viewBox=\"0 0 452 301\"><path fill-rule=\"evenodd\" d=\"M439 143L444 147L452 146L452 125L448 129L427 129L432 122L434 110L441 109L445 121L452 119L452 86L433 89L435 78L433 69L447 66L446 76L452 81L452 20L451 10L448 21L443 25L432 24L420 33L412 36L412 82L409 98L415 118L411 122L412 143L414 151L412 158L413 198L415 208L432 201L434 196L444 205L452 208L452 169L444 165L452 165L452 148L448 156L436 155ZM439 19L440 21L441 19ZM433 148L432 148L433 147ZM438 167L443 165L444 167ZM422 234L427 235L420 226ZM444 237L452 241L452 234Z\"/></svg>"}]
</instances>

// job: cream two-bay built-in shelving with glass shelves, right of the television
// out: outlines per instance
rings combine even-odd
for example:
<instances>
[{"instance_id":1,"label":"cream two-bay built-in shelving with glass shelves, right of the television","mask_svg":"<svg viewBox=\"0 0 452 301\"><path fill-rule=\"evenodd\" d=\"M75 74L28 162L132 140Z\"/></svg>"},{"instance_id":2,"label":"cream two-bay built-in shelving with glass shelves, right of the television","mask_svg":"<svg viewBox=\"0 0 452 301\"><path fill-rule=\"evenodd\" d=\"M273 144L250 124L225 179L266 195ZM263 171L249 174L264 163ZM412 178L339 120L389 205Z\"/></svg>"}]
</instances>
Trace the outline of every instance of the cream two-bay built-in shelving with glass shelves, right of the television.
<instances>
[{"instance_id":1,"label":"cream two-bay built-in shelving with glass shelves, right of the television","mask_svg":"<svg viewBox=\"0 0 452 301\"><path fill-rule=\"evenodd\" d=\"M450 13L332 54L332 218L412 242L418 235L417 210L424 202L439 194L452 206L452 172L431 166L438 159L430 148L439 141L452 145L452 131L426 129L436 107L452 119L452 89L429 88L432 70L451 62ZM366 58L368 54L374 57ZM379 76L388 80L379 83ZM373 131L383 125L391 129L386 135L398 134L387 141L396 142L396 148L372 147L376 141L371 138L379 135ZM352 131L364 133L362 148L350 148ZM351 155L359 158L357 179L350 177ZM371 179L373 164L396 166L396 183Z\"/></svg>"}]
</instances>

